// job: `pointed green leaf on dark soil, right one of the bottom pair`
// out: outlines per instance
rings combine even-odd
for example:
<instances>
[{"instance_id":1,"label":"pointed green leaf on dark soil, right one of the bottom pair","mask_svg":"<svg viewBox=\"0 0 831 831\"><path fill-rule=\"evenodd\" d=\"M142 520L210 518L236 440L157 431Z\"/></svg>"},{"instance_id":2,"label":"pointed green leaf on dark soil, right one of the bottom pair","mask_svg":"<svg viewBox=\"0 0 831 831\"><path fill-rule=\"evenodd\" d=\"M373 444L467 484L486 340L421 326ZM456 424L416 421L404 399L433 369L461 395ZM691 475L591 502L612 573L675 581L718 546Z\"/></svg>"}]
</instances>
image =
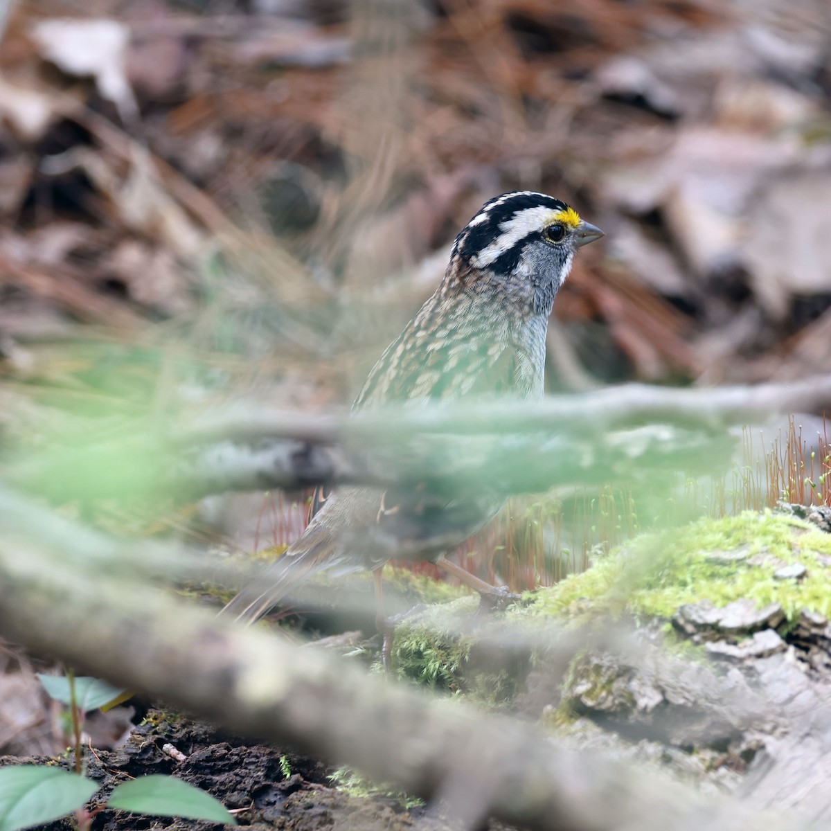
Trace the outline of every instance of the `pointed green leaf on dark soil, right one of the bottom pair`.
<instances>
[{"instance_id":1,"label":"pointed green leaf on dark soil, right one of the bottom pair","mask_svg":"<svg viewBox=\"0 0 831 831\"><path fill-rule=\"evenodd\" d=\"M107 805L136 814L237 824L224 805L204 790L173 776L160 774L142 776L116 786Z\"/></svg>"}]
</instances>

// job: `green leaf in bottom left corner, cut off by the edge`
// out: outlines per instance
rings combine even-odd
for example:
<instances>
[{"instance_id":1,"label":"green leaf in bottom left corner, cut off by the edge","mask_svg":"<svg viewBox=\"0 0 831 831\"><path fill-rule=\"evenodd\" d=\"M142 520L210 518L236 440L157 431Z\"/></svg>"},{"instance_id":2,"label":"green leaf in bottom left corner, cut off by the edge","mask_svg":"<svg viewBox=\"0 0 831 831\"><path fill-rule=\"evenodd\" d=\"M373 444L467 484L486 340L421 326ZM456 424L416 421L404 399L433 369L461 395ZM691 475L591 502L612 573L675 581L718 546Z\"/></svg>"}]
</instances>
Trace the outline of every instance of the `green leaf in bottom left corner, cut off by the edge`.
<instances>
[{"instance_id":1,"label":"green leaf in bottom left corner, cut off by the edge","mask_svg":"<svg viewBox=\"0 0 831 831\"><path fill-rule=\"evenodd\" d=\"M81 808L98 784L61 768L18 765L0 770L0 831L42 825Z\"/></svg>"}]
</instances>

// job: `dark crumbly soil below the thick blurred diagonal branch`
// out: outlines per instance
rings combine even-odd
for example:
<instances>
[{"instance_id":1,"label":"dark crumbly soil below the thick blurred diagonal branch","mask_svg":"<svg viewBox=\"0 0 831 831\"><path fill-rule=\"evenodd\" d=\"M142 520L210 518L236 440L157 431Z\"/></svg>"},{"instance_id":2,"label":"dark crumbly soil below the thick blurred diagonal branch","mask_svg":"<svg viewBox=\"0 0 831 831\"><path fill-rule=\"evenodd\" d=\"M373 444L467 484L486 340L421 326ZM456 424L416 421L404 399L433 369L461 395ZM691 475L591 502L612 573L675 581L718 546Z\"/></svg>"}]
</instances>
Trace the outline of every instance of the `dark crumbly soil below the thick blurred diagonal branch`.
<instances>
[{"instance_id":1,"label":"dark crumbly soil below the thick blurred diagonal branch","mask_svg":"<svg viewBox=\"0 0 831 831\"><path fill-rule=\"evenodd\" d=\"M187 758L177 761L165 746ZM174 752L175 752L174 751ZM7 761L11 761L6 757ZM39 758L16 758L14 764L43 764ZM3 761L0 760L0 765ZM71 762L67 762L67 765ZM106 802L116 784L139 776L167 774L179 777L219 799L234 813L238 824L257 829L410 829L416 821L425 829L445 829L426 809L407 809L395 796L352 796L332 788L328 768L321 762L291 752L249 745L209 725L184 717L150 711L118 750L96 750L89 757L87 775L101 783L91 808ZM286 776L284 771L289 775ZM61 820L42 831L65 831L73 826ZM492 826L496 829L498 826ZM223 829L220 824L169 819L104 809L93 831L125 829Z\"/></svg>"}]
</instances>

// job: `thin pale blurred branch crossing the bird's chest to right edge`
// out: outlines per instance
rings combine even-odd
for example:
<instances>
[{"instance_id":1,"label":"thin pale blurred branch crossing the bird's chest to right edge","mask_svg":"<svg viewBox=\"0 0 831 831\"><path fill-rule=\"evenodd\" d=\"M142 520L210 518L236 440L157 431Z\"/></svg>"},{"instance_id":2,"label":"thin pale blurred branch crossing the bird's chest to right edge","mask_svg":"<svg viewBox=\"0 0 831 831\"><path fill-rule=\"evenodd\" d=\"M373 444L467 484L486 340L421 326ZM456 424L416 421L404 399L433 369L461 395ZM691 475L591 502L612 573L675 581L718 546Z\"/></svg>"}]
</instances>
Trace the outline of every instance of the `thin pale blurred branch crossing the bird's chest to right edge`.
<instances>
[{"instance_id":1,"label":"thin pale blurred branch crossing the bird's chest to right edge","mask_svg":"<svg viewBox=\"0 0 831 831\"><path fill-rule=\"evenodd\" d=\"M239 404L214 412L180 430L184 443L217 440L296 439L311 444L343 440L374 441L411 433L534 433L581 430L595 435L651 424L693 430L765 420L781 413L821 411L831 407L831 375L788 384L676 389L625 384L575 396L547 396L543 401L420 406L405 410L369 410L344 416L289 414Z\"/></svg>"}]
</instances>

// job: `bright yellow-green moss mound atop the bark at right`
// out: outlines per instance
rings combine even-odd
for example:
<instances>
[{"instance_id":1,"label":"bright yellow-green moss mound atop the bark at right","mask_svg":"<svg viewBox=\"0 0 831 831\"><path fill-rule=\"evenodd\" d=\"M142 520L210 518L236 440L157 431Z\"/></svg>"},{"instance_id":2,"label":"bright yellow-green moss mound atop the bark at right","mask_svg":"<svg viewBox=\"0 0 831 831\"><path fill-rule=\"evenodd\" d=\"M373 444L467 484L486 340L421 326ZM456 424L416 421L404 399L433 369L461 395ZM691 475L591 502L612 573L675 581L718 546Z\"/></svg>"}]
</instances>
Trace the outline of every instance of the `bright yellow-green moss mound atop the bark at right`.
<instances>
[{"instance_id":1,"label":"bright yellow-green moss mound atop the bark at right","mask_svg":"<svg viewBox=\"0 0 831 831\"><path fill-rule=\"evenodd\" d=\"M808 573L799 582L777 580L774 563L712 557L739 548L746 548L749 557L765 553L771 560L802 563ZM760 607L778 602L789 620L806 607L831 617L831 568L818 555L831 556L831 535L798 519L770 512L701 519L682 529L635 538L599 558L587 572L541 589L525 613L580 622L598 613L668 618L684 603L707 598L725 606L747 597Z\"/></svg>"}]
</instances>

